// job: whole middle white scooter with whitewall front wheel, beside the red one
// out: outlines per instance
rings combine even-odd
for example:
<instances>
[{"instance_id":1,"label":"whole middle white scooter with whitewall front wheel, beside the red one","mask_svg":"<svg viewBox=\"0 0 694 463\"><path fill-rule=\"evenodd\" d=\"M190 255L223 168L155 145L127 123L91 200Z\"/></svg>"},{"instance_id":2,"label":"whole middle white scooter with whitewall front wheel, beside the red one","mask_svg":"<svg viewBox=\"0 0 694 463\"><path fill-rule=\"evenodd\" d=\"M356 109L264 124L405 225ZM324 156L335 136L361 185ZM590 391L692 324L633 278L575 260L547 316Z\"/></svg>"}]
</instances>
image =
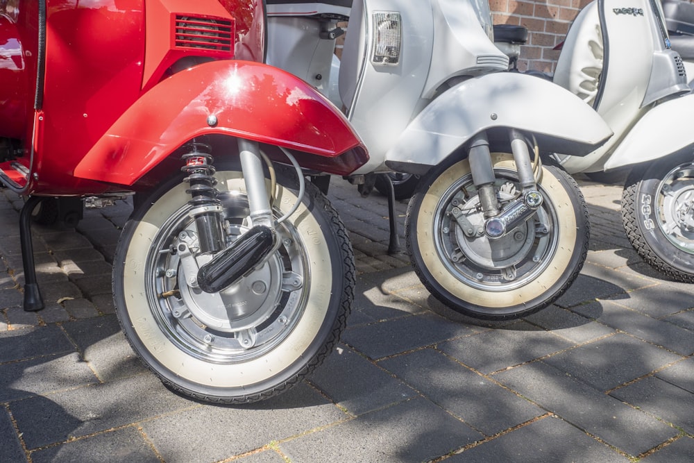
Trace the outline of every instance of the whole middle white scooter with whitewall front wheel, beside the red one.
<instances>
[{"instance_id":1,"label":"whole middle white scooter with whitewall front wheel, beside the red one","mask_svg":"<svg viewBox=\"0 0 694 463\"><path fill-rule=\"evenodd\" d=\"M329 89L332 51L319 51L332 50L344 3L269 0L269 64ZM537 147L584 155L607 124L558 85L501 72L486 2L356 0L344 15L339 96L370 155L351 180L422 176L406 237L425 287L484 319L552 303L582 268L589 221L576 183Z\"/></svg>"}]
</instances>

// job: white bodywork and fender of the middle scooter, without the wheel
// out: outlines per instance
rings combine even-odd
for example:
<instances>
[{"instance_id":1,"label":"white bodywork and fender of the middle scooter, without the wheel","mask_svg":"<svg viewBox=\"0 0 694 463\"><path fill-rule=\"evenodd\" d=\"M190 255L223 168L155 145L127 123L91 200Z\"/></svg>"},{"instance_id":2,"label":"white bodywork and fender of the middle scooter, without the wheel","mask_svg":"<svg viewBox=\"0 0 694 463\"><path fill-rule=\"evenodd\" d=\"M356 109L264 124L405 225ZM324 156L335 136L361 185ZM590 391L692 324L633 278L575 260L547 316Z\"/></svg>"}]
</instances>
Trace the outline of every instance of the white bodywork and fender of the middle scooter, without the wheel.
<instances>
[{"instance_id":1,"label":"white bodywork and fender of the middle scooter, without the wheel","mask_svg":"<svg viewBox=\"0 0 694 463\"><path fill-rule=\"evenodd\" d=\"M320 42L315 31L331 25L316 26L315 17L331 8L340 10L331 1L318 7L303 3L294 11L315 13L291 17L287 4L273 3L268 2L268 62L325 90L326 67L319 73L313 70L318 56L313 51L330 49L330 44L315 43ZM373 56L379 37L373 17L378 12L399 15L402 42L397 62L381 62ZM307 26L311 16L313 31ZM310 40L309 35L314 42L310 46L303 42ZM273 48L274 44L281 46ZM301 67L298 62L303 63L302 69L296 69ZM355 0L341 58L339 93L350 122L369 148L370 160L354 174L393 170L421 174L476 133L493 127L522 128L548 142L542 149L563 147L577 155L611 136L595 112L548 81L530 81L517 73L470 80L507 71L508 63L505 53L493 44L486 1ZM315 81L316 74L321 74L321 82ZM330 92L325 94L336 102ZM471 95L474 103L466 101ZM575 116L556 117L562 112ZM411 149L414 139L416 152Z\"/></svg>"}]
</instances>

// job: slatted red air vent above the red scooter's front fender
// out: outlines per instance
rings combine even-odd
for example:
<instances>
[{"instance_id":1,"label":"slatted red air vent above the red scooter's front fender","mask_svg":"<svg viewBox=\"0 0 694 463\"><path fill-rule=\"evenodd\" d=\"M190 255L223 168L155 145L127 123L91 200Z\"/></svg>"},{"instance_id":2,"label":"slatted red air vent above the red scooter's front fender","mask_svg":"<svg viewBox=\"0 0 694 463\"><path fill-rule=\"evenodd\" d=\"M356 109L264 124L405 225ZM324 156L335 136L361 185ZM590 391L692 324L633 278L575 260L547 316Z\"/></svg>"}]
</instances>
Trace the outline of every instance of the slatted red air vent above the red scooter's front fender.
<instances>
[{"instance_id":1,"label":"slatted red air vent above the red scooter's front fender","mask_svg":"<svg viewBox=\"0 0 694 463\"><path fill-rule=\"evenodd\" d=\"M175 44L178 48L232 51L234 27L227 19L176 16Z\"/></svg>"}]
</instances>

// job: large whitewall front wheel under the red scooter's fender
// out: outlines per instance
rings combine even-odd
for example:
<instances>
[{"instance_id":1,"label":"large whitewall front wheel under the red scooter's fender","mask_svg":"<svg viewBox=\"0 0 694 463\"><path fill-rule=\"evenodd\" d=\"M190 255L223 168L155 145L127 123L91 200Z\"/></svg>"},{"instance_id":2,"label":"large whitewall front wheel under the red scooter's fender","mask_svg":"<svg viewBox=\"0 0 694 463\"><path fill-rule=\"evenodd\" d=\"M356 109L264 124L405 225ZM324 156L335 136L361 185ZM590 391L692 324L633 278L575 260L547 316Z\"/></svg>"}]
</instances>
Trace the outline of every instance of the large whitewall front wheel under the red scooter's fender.
<instances>
[{"instance_id":1,"label":"large whitewall front wheel under the red scooter's fender","mask_svg":"<svg viewBox=\"0 0 694 463\"><path fill-rule=\"evenodd\" d=\"M248 228L248 199L237 171L218 170L228 243ZM218 403L274 396L332 351L353 301L355 267L344 225L313 185L276 227L279 247L219 293L194 280L198 230L180 178L142 201L115 255L114 294L126 337L169 387ZM296 203L294 180L278 175L273 214ZM189 250L185 253L182 250Z\"/></svg>"}]
</instances>

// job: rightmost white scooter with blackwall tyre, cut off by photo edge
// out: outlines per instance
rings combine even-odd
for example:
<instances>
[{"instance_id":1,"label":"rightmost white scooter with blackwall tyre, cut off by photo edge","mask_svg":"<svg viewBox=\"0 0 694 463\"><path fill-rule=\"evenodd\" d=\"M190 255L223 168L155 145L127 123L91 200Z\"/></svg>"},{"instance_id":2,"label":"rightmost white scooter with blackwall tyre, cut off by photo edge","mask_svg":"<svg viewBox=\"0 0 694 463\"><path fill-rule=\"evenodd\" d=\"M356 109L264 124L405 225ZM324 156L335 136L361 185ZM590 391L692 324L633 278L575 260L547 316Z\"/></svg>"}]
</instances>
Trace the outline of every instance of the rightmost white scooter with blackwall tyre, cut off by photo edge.
<instances>
[{"instance_id":1,"label":"rightmost white scooter with blackwall tyre, cut off by photo edge","mask_svg":"<svg viewBox=\"0 0 694 463\"><path fill-rule=\"evenodd\" d=\"M554 81L615 135L583 158L557 159L571 174L631 169L622 197L627 237L653 267L694 282L694 96L667 28L658 1L600 0L579 13Z\"/></svg>"}]
</instances>

